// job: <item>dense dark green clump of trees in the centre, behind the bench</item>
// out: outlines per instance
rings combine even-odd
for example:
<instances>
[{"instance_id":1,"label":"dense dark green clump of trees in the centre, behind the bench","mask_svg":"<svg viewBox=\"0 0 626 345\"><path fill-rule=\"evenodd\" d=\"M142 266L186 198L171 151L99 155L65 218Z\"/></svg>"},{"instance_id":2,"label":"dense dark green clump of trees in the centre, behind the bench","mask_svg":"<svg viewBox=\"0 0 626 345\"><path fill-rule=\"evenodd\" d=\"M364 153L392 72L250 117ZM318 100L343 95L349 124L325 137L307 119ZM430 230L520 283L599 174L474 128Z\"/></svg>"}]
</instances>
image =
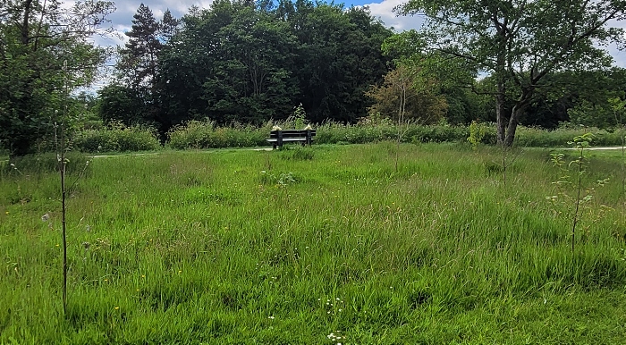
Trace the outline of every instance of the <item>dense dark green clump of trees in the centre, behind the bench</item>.
<instances>
[{"instance_id":1,"label":"dense dark green clump of trees in the centre, behind the bench","mask_svg":"<svg viewBox=\"0 0 626 345\"><path fill-rule=\"evenodd\" d=\"M389 69L380 46L393 31L364 8L218 0L180 20L166 12L157 21L141 4L127 35L99 112L165 133L204 118L283 120L298 105L311 122L356 122L372 104L366 91Z\"/></svg>"}]
</instances>

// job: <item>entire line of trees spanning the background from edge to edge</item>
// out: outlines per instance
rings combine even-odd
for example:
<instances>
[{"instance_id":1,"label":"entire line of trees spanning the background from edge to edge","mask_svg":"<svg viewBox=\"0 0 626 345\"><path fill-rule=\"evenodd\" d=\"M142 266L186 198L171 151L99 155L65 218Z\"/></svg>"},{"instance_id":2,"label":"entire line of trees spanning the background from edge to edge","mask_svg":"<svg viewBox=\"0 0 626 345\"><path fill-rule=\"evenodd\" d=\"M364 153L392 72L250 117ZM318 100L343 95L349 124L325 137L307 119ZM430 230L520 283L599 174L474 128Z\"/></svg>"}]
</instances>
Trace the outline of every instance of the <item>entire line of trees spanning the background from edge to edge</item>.
<instances>
[{"instance_id":1,"label":"entire line of trees spanning the background from edge to edge","mask_svg":"<svg viewBox=\"0 0 626 345\"><path fill-rule=\"evenodd\" d=\"M180 19L141 4L116 52L112 2L0 0L0 148L31 152L61 120L148 125L165 139L190 120L310 122L368 117L419 123L622 124L626 72L603 45L624 43L626 4L609 0L410 0L422 29L394 33L367 8L312 0L217 0ZM114 82L80 87L117 55ZM68 93L69 92L69 93Z\"/></svg>"}]
</instances>

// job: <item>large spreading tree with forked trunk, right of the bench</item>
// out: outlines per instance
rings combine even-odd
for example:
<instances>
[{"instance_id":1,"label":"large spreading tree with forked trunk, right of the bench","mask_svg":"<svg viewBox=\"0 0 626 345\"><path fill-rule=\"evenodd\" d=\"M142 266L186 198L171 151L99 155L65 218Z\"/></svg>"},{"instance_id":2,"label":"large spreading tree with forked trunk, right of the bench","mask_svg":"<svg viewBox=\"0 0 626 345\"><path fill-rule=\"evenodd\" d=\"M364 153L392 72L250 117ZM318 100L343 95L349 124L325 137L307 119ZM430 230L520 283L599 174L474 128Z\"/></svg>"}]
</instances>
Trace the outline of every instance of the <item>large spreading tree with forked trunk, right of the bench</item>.
<instances>
[{"instance_id":1,"label":"large spreading tree with forked trunk, right of the bench","mask_svg":"<svg viewBox=\"0 0 626 345\"><path fill-rule=\"evenodd\" d=\"M553 72L605 68L596 44L623 43L626 2L613 0L410 0L398 13L423 13L420 43L494 79L498 143L511 147L520 117ZM507 107L507 104L512 105Z\"/></svg>"}]
</instances>

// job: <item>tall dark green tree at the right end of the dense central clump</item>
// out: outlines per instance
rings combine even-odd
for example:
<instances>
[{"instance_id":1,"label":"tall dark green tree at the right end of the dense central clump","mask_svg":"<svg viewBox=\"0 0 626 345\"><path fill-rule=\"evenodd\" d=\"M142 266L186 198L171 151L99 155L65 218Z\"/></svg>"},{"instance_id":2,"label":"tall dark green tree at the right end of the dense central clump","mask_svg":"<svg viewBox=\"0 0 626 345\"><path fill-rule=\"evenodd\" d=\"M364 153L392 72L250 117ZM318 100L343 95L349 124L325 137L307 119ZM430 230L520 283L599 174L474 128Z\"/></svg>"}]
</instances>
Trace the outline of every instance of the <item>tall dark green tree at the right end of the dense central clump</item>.
<instances>
[{"instance_id":1,"label":"tall dark green tree at the right end of the dense central clump","mask_svg":"<svg viewBox=\"0 0 626 345\"><path fill-rule=\"evenodd\" d=\"M372 102L365 92L389 71L380 46L392 31L367 8L308 0L282 1L276 16L300 43L292 71L309 119L356 122L367 114Z\"/></svg>"}]
</instances>

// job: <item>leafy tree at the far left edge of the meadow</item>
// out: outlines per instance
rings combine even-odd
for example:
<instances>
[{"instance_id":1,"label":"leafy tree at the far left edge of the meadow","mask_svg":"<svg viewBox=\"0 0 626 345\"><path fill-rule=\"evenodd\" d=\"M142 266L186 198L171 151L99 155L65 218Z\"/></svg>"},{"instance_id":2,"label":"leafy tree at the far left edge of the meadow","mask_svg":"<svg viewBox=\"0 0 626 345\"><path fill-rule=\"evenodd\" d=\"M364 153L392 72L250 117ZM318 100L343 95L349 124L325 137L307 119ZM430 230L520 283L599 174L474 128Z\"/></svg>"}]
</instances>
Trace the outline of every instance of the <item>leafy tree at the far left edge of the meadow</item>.
<instances>
[{"instance_id":1,"label":"leafy tree at the far left edge of the meadow","mask_svg":"<svg viewBox=\"0 0 626 345\"><path fill-rule=\"evenodd\" d=\"M88 39L114 11L113 2L0 0L0 146L30 152L58 119L63 85L89 85L106 50ZM63 71L63 62L67 68Z\"/></svg>"}]
</instances>

